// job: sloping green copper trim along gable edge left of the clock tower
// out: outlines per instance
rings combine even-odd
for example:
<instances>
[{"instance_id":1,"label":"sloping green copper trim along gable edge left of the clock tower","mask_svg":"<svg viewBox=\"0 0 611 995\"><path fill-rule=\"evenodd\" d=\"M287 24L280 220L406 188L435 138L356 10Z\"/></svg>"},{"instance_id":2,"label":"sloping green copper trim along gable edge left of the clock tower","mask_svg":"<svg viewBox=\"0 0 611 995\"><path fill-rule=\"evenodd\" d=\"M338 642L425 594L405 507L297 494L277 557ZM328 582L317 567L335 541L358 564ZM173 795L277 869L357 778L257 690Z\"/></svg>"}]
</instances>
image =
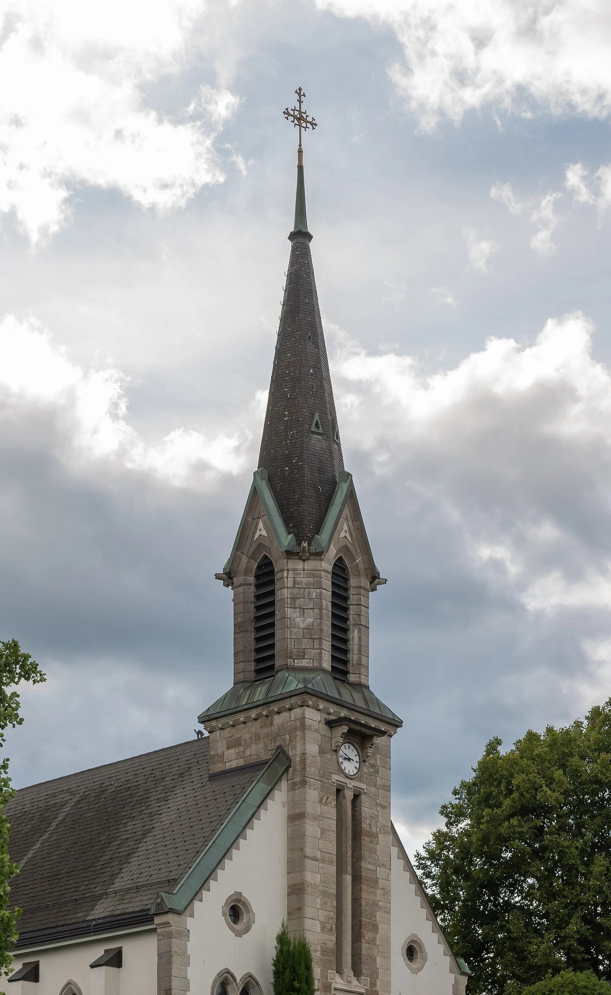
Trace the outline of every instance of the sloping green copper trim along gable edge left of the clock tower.
<instances>
[{"instance_id":1,"label":"sloping green copper trim along gable edge left of the clock tower","mask_svg":"<svg viewBox=\"0 0 611 995\"><path fill-rule=\"evenodd\" d=\"M217 870L223 858L229 853L235 841L241 836L252 817L256 815L290 765L291 760L288 753L282 746L278 746L271 760L241 796L219 832L213 837L183 880L172 892L159 892L151 906L152 914L178 912L179 915L182 915L198 892L204 888L210 876Z\"/></svg>"}]
</instances>

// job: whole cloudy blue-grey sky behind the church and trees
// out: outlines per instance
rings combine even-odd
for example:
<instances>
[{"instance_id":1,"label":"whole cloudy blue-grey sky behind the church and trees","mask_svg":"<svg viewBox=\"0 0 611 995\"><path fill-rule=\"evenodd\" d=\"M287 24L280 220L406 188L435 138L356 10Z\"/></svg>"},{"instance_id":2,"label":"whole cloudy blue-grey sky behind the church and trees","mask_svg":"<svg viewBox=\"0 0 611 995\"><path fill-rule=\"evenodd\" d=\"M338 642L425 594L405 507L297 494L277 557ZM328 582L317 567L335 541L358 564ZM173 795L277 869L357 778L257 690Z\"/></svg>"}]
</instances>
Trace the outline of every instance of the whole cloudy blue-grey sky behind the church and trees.
<instances>
[{"instance_id":1,"label":"whole cloudy blue-grey sky behind the church and trees","mask_svg":"<svg viewBox=\"0 0 611 995\"><path fill-rule=\"evenodd\" d=\"M0 635L19 785L193 736L256 467L301 85L412 851L611 695L606 0L4 0Z\"/></svg>"}]
</instances>

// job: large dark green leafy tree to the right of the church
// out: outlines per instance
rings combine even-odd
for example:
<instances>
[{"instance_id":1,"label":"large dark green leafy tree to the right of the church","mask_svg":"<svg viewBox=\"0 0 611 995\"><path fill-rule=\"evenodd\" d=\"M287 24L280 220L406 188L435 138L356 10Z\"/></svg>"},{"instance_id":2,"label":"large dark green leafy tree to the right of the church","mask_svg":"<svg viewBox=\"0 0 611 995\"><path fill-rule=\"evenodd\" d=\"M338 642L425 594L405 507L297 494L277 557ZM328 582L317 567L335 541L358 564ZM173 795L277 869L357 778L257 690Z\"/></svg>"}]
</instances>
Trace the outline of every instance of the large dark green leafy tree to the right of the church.
<instances>
[{"instance_id":1,"label":"large dark green leafy tree to the right of the church","mask_svg":"<svg viewBox=\"0 0 611 995\"><path fill-rule=\"evenodd\" d=\"M501 746L488 743L416 855L469 989L510 995L565 968L609 976L611 698Z\"/></svg>"}]
</instances>

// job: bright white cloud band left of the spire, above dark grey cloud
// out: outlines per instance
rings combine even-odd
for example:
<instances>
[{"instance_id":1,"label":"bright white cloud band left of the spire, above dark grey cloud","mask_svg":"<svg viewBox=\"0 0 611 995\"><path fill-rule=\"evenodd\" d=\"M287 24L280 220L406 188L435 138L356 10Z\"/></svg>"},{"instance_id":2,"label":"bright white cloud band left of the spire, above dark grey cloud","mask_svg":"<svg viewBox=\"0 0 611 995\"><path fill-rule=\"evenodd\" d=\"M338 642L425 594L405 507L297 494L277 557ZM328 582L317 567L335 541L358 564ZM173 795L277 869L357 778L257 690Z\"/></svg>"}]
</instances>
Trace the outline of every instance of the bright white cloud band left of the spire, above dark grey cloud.
<instances>
[{"instance_id":1,"label":"bright white cloud band left of the spire, above dark grey cloud","mask_svg":"<svg viewBox=\"0 0 611 995\"><path fill-rule=\"evenodd\" d=\"M126 378L116 369L84 370L34 320L8 315L0 324L0 390L5 403L44 406L66 418L75 453L114 459L172 484L198 472L208 483L243 467L249 433L207 438L179 428L145 444L127 421Z\"/></svg>"}]
</instances>

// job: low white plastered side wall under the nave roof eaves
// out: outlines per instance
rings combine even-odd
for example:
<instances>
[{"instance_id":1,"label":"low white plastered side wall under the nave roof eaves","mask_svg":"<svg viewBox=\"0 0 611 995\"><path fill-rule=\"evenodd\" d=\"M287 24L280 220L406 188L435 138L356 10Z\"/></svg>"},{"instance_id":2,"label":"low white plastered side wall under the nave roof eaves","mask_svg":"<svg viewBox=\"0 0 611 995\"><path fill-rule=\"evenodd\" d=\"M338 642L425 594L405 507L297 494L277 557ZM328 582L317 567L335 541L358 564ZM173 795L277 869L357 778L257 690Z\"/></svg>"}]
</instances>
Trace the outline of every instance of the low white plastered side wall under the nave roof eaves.
<instances>
[{"instance_id":1,"label":"low white plastered side wall under the nave roof eaves","mask_svg":"<svg viewBox=\"0 0 611 995\"><path fill-rule=\"evenodd\" d=\"M111 946L123 947L121 968L89 967ZM116 974L107 979L106 995L155 995L157 991L157 932L154 926L143 932L117 933L104 939L19 954L15 956L12 968L16 971L24 961L32 960L40 961L38 984L19 981L9 984L7 978L2 978L0 991L5 995L25 995L21 989L28 985L27 991L32 995L60 995L68 981L76 981L82 995L104 995L103 975L108 971Z\"/></svg>"}]
</instances>

